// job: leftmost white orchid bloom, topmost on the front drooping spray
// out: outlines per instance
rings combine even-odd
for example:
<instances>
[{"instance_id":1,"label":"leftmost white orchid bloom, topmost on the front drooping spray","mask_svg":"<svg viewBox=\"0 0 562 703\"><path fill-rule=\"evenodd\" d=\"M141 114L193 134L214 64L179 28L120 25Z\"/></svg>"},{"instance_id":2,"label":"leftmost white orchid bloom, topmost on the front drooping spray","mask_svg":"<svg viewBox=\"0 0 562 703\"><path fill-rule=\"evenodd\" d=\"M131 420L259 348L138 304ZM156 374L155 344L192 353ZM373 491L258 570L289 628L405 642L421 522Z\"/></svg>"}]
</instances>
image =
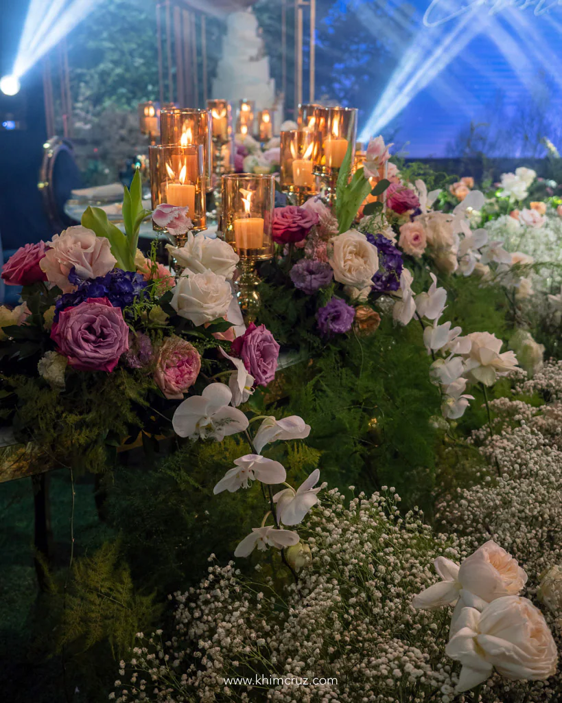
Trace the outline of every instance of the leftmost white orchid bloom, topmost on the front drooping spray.
<instances>
[{"instance_id":1,"label":"leftmost white orchid bloom, topmost on the front drooping spray","mask_svg":"<svg viewBox=\"0 0 562 703\"><path fill-rule=\"evenodd\" d=\"M248 427L242 411L229 406L233 394L224 383L211 383L200 396L190 396L178 405L172 425L176 434L190 439L213 437L222 441Z\"/></svg>"}]
</instances>

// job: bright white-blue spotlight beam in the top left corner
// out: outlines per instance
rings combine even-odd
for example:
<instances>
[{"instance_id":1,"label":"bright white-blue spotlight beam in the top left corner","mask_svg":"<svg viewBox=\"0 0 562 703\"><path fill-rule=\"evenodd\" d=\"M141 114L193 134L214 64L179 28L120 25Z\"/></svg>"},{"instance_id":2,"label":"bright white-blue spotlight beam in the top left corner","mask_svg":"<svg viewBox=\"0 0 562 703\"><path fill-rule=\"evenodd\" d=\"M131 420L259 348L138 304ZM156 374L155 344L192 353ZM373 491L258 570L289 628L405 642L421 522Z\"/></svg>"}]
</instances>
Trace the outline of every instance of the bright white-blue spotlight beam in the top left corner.
<instances>
[{"instance_id":1,"label":"bright white-blue spotlight beam in the top left corner","mask_svg":"<svg viewBox=\"0 0 562 703\"><path fill-rule=\"evenodd\" d=\"M84 20L99 0L32 0L15 57L12 75L20 78Z\"/></svg>"}]
</instances>

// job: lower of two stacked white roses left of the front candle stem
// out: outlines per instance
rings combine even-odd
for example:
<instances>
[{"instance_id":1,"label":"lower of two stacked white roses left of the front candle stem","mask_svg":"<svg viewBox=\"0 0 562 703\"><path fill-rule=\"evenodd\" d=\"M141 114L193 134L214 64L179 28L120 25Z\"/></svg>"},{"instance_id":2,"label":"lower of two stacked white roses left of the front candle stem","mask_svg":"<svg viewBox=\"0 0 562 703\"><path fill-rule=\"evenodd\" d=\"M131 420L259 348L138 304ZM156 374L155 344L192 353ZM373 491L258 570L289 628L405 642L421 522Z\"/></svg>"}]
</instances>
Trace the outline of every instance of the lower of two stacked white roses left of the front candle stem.
<instances>
[{"instance_id":1,"label":"lower of two stacked white roses left of the front candle stem","mask_svg":"<svg viewBox=\"0 0 562 703\"><path fill-rule=\"evenodd\" d=\"M207 270L180 276L170 304L179 316L191 320L194 325L202 325L226 317L232 297L228 280Z\"/></svg>"}]
</instances>

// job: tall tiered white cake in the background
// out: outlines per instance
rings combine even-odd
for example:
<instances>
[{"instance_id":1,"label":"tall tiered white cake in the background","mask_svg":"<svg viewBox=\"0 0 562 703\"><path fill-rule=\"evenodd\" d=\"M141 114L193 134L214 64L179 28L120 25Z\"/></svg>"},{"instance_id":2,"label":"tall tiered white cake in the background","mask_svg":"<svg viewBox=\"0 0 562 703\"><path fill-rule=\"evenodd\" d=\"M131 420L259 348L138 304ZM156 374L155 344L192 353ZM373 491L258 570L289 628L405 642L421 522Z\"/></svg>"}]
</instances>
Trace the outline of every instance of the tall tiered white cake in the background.
<instances>
[{"instance_id":1,"label":"tall tiered white cake in the background","mask_svg":"<svg viewBox=\"0 0 562 703\"><path fill-rule=\"evenodd\" d=\"M251 9L228 15L223 55L213 81L213 97L237 105L246 99L256 110L273 108L275 81L269 75L269 57L258 34L258 20Z\"/></svg>"}]
</instances>

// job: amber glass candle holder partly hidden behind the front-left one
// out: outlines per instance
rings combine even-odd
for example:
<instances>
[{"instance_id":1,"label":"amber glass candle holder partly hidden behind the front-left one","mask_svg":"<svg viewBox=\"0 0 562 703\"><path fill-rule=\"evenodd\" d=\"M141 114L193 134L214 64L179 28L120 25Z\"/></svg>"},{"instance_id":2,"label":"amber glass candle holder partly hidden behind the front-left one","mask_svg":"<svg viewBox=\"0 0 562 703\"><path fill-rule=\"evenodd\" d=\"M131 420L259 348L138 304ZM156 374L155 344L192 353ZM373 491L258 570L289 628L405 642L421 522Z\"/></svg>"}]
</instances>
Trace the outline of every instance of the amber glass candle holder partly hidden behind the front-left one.
<instances>
[{"instance_id":1,"label":"amber glass candle holder partly hidden behind the front-left one","mask_svg":"<svg viewBox=\"0 0 562 703\"><path fill-rule=\"evenodd\" d=\"M205 188L212 190L213 151L211 113L199 108L162 108L160 143L163 146L202 146Z\"/></svg>"}]
</instances>

